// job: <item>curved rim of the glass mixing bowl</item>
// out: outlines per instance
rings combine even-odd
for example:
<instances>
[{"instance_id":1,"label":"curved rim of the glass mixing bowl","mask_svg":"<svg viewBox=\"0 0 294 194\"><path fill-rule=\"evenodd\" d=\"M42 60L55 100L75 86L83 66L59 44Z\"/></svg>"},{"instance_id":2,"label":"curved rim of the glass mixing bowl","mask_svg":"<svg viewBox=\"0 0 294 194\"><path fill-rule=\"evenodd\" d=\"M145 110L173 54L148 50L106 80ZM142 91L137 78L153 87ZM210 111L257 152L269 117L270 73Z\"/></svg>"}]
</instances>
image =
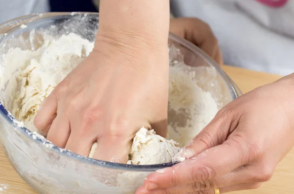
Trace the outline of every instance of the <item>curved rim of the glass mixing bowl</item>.
<instances>
[{"instance_id":1,"label":"curved rim of the glass mixing bowl","mask_svg":"<svg viewBox=\"0 0 294 194\"><path fill-rule=\"evenodd\" d=\"M46 19L50 17L58 17L58 16L75 16L75 15L97 15L99 16L99 13L96 12L49 12L49 13L39 13L39 14L30 14L23 17L15 18L13 20L10 20L8 22L5 22L0 25L0 41L1 41L1 34L5 34L5 30L9 30L12 27L21 26L22 24L27 24L29 22L33 22L39 19ZM207 62L208 65L213 66L216 68L218 73L221 75L223 80L226 82L227 87L232 92L233 100L238 98L240 95L242 95L241 90L236 86L236 84L229 78L229 76L221 69L220 65L218 65L212 58L210 58L204 51L202 51L200 48L198 48L195 44L190 43L189 41L173 34L169 33L169 39L172 41L175 41L177 43L182 44L187 49L191 50L192 52L199 55L203 60ZM4 108L4 106L0 103L0 115L3 116L6 121L8 121L12 126L14 126L15 129L17 129L16 132L21 132L27 139L32 140L33 142L36 142L37 144L41 144L42 149L46 151L53 151L57 154L61 154L65 157L69 157L73 160L76 160L78 162L82 163L88 163L90 165L102 167L102 168L111 168L111 169L117 169L117 170L123 170L123 171L136 171L136 172L153 172L158 169L171 167L178 162L170 162L170 163L164 163L164 164L154 164L154 165L132 165L132 164L121 164L121 163L114 163L114 162L107 162L102 160L96 160L93 158L89 158L86 156L82 156L76 153L73 153L72 151L68 151L65 149L61 149L55 145L53 145L51 142L46 140L45 138L36 137L35 134L33 134L32 131L25 128L25 126L19 126L17 125L17 120L11 115L11 113ZM45 146L45 144L51 144L52 146L48 147Z\"/></svg>"}]
</instances>

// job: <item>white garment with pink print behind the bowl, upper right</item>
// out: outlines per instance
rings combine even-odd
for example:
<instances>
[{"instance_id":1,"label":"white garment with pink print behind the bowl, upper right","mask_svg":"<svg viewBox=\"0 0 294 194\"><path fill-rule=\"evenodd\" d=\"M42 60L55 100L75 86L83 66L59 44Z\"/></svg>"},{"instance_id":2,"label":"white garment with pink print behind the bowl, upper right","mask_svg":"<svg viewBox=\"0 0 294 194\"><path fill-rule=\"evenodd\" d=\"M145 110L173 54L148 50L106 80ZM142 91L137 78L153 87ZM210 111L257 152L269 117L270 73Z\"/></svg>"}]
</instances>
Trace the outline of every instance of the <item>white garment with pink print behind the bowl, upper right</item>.
<instances>
[{"instance_id":1,"label":"white garment with pink print behind the bowl, upper right","mask_svg":"<svg viewBox=\"0 0 294 194\"><path fill-rule=\"evenodd\" d=\"M294 72L294 0L171 0L171 9L210 24L225 64Z\"/></svg>"}]
</instances>

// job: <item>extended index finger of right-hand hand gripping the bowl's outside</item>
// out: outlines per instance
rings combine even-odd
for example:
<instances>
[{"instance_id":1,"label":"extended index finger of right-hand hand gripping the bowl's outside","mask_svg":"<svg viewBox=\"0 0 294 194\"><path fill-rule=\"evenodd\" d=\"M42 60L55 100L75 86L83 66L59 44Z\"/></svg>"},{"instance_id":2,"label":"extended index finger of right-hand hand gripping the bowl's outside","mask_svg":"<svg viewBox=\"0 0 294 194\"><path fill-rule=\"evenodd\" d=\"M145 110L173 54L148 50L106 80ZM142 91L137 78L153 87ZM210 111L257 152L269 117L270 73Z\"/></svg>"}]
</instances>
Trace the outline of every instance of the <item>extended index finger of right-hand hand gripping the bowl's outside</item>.
<instances>
[{"instance_id":1,"label":"extended index finger of right-hand hand gripping the bowl's outside","mask_svg":"<svg viewBox=\"0 0 294 194\"><path fill-rule=\"evenodd\" d=\"M235 140L229 139L161 173L150 174L144 186L147 189L158 189L207 181L247 164L249 148Z\"/></svg>"}]
</instances>

